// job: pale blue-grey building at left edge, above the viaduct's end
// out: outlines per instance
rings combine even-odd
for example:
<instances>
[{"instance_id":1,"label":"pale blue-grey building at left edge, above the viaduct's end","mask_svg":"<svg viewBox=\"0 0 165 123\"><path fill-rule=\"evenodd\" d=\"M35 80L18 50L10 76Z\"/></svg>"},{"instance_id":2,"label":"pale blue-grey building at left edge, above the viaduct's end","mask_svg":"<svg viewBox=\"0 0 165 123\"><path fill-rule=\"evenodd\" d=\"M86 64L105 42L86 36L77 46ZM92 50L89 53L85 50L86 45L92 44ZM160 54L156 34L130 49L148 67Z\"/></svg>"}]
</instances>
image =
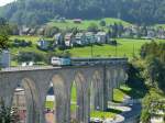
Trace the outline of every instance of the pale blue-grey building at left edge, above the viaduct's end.
<instances>
[{"instance_id":1,"label":"pale blue-grey building at left edge, above the viaduct's end","mask_svg":"<svg viewBox=\"0 0 165 123\"><path fill-rule=\"evenodd\" d=\"M9 51L2 51L0 54L0 65L1 67L10 67L11 56Z\"/></svg>"}]
</instances>

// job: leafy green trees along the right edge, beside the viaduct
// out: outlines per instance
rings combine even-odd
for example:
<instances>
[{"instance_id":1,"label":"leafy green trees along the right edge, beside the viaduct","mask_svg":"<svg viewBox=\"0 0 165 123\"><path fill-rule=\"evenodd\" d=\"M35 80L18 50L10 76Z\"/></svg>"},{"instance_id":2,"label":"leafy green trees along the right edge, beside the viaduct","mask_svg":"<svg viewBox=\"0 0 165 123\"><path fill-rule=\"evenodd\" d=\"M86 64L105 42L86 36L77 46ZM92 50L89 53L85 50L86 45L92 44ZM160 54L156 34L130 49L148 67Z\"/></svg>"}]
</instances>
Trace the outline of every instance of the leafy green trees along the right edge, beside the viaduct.
<instances>
[{"instance_id":1,"label":"leafy green trees along the right edge, beside the viaduct","mask_svg":"<svg viewBox=\"0 0 165 123\"><path fill-rule=\"evenodd\" d=\"M142 75L150 89L142 102L141 121L151 123L153 118L162 118L165 121L165 43L152 41L144 44L141 57L145 62Z\"/></svg>"}]
</instances>

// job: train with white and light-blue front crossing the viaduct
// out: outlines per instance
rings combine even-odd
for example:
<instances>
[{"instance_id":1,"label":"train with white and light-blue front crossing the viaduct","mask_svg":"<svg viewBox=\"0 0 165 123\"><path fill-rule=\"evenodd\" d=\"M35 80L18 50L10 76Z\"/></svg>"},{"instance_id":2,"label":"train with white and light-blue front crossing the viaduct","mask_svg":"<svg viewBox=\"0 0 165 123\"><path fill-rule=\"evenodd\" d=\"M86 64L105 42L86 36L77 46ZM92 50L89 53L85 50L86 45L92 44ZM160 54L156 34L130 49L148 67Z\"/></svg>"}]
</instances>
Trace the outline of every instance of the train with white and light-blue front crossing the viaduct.
<instances>
[{"instance_id":1,"label":"train with white and light-blue front crossing the viaduct","mask_svg":"<svg viewBox=\"0 0 165 123\"><path fill-rule=\"evenodd\" d=\"M127 63L128 58L70 58L70 57L52 57L53 66L85 66L85 65L106 65L116 63Z\"/></svg>"}]
</instances>

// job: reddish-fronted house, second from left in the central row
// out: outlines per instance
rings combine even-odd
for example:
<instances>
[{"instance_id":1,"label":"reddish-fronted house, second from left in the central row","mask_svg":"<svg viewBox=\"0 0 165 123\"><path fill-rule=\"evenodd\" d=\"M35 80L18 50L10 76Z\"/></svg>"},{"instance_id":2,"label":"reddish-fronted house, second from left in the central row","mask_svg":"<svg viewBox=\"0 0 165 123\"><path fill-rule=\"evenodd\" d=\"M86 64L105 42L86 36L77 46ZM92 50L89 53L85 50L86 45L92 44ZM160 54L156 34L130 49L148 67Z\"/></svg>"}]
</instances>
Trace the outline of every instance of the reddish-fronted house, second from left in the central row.
<instances>
[{"instance_id":1,"label":"reddish-fronted house, second from left in the central row","mask_svg":"<svg viewBox=\"0 0 165 123\"><path fill-rule=\"evenodd\" d=\"M67 33L64 38L65 38L66 46L68 46L68 47L73 46L73 42L74 42L73 33Z\"/></svg>"}]
</instances>

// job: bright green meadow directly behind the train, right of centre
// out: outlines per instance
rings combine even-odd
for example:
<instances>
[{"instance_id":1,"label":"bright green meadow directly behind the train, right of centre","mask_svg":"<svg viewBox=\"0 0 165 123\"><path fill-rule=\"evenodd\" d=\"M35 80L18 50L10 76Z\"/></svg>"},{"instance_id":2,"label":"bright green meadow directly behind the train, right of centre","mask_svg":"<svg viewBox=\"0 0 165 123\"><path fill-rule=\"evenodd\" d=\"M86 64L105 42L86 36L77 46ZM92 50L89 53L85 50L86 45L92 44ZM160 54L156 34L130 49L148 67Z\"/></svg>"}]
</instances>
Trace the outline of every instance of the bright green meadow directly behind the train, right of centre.
<instances>
[{"instance_id":1,"label":"bright green meadow directly behind the train, right of centre","mask_svg":"<svg viewBox=\"0 0 165 123\"><path fill-rule=\"evenodd\" d=\"M127 56L132 57L134 55L139 55L141 46L150 42L148 40L130 40L130 38L117 38L119 45L112 46L108 44L103 44L101 46L94 45L92 54L94 57L110 57L110 56ZM76 47L68 49L68 52L74 57L90 57L91 56L91 46L86 47Z\"/></svg>"}]
</instances>

